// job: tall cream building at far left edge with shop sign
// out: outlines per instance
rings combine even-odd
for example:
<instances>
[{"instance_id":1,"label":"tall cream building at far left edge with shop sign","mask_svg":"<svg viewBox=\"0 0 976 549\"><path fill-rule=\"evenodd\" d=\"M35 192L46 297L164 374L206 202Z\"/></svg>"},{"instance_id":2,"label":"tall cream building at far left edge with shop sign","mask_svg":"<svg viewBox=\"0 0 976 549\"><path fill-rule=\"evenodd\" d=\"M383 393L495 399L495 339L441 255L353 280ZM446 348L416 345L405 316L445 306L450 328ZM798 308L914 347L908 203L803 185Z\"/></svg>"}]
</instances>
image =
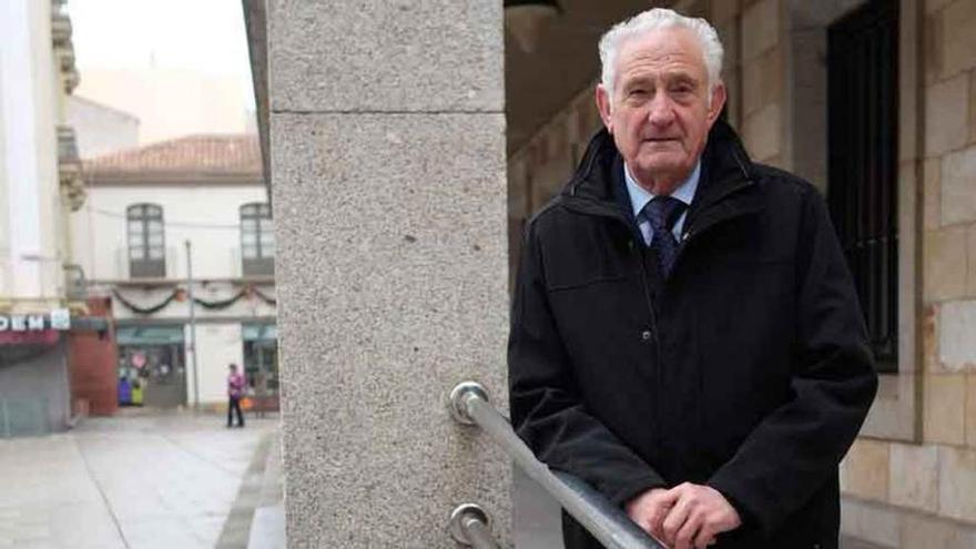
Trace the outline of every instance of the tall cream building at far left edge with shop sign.
<instances>
[{"instance_id":1,"label":"tall cream building at far left edge with shop sign","mask_svg":"<svg viewBox=\"0 0 976 549\"><path fill-rule=\"evenodd\" d=\"M68 244L84 202L65 116L77 85L64 2L0 3L0 437L71 421L67 329L84 308Z\"/></svg>"}]
</instances>

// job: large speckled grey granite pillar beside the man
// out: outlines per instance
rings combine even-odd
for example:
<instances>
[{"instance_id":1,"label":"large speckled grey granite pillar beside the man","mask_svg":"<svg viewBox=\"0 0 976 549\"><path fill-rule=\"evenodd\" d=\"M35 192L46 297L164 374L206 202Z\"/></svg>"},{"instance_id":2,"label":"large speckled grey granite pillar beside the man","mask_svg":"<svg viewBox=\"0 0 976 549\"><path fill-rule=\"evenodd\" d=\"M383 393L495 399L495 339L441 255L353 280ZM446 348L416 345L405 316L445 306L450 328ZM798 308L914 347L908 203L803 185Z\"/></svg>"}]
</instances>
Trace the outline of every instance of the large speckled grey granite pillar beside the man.
<instances>
[{"instance_id":1,"label":"large speckled grey granite pillar beside the man","mask_svg":"<svg viewBox=\"0 0 976 549\"><path fill-rule=\"evenodd\" d=\"M453 423L505 404L501 1L268 0L289 547L510 540L509 460Z\"/></svg>"}]
</instances>

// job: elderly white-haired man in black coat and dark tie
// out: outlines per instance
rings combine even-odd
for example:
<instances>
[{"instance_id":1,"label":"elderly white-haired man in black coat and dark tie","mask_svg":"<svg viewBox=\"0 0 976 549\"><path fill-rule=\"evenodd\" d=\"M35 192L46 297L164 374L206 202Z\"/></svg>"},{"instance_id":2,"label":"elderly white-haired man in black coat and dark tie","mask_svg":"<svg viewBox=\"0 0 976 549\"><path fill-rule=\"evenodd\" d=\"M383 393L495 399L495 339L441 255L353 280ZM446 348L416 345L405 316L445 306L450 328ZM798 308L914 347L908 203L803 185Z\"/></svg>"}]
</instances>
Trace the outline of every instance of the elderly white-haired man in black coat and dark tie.
<instances>
[{"instance_id":1,"label":"elderly white-haired man in black coat and dark tie","mask_svg":"<svg viewBox=\"0 0 976 549\"><path fill-rule=\"evenodd\" d=\"M600 59L606 130L525 235L512 424L669 546L836 547L877 379L826 207L719 120L703 20L643 12Z\"/></svg>"}]
</instances>

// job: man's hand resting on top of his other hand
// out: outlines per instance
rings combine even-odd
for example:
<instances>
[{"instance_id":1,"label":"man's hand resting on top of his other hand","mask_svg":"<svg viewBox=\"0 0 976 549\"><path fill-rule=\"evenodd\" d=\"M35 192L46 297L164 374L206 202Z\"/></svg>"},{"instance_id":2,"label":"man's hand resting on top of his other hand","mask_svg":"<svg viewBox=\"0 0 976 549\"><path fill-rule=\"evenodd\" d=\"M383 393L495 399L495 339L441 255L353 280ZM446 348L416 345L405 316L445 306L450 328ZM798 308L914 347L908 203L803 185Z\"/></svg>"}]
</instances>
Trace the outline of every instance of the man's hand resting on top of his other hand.
<instances>
[{"instance_id":1,"label":"man's hand resting on top of his other hand","mask_svg":"<svg viewBox=\"0 0 976 549\"><path fill-rule=\"evenodd\" d=\"M710 487L684 482L668 490L674 501L661 535L674 549L704 549L715 536L742 525L739 512L722 494Z\"/></svg>"}]
</instances>

